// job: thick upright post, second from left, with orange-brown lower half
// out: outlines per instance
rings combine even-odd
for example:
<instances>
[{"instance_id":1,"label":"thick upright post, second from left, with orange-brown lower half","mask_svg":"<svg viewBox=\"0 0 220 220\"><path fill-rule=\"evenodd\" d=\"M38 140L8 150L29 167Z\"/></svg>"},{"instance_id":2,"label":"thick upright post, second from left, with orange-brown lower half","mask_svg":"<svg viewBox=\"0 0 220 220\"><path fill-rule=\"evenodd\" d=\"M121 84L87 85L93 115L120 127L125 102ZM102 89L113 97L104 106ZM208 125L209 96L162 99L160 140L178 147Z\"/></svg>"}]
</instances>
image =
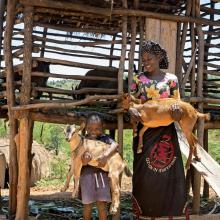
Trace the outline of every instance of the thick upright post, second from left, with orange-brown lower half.
<instances>
[{"instance_id":1,"label":"thick upright post, second from left, with orange-brown lower half","mask_svg":"<svg viewBox=\"0 0 220 220\"><path fill-rule=\"evenodd\" d=\"M24 64L20 102L22 105L30 102L31 95L31 69L32 69L32 31L33 31L33 7L24 8ZM16 220L28 219L28 199L30 194L30 170L29 152L32 121L29 111L23 111L20 120L19 137L21 146L19 149L19 178L18 178L18 203Z\"/></svg>"}]
</instances>

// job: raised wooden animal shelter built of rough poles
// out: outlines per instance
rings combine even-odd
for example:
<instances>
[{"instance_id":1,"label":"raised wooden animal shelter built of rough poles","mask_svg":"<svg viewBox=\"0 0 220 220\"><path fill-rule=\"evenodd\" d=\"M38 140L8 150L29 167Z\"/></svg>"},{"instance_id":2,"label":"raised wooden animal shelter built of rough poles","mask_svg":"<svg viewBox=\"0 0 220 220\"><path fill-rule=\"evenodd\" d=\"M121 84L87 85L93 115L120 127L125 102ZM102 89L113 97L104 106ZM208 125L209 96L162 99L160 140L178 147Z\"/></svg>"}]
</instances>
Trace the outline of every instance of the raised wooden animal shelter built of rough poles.
<instances>
[{"instance_id":1,"label":"raised wooden animal shelter built of rough poles","mask_svg":"<svg viewBox=\"0 0 220 220\"><path fill-rule=\"evenodd\" d=\"M217 0L205 4L200 4L199 0L8 0L7 6L5 2L0 0L1 6L5 6L0 12L0 39L2 36L4 39L1 44L4 57L0 54L1 117L8 114L10 120L9 208L10 215L17 220L27 219L28 215L34 121L80 123L82 106L95 106L96 109L98 106L106 119L105 127L118 128L122 153L123 128L129 126L123 123L120 109L123 77L128 73L128 82L131 82L134 63L141 70L139 45L152 37L149 35L152 22L164 23L160 31L166 35L169 34L166 32L171 25L169 22L175 26L172 36L176 43L172 47L173 41L170 42L174 49L170 62L178 76L182 98L197 105L200 111L214 113L214 120L198 124L200 144L207 143L207 129L220 128ZM156 37L157 34L154 40ZM162 40L167 46L167 41ZM49 65L54 71L42 70L41 65ZM59 73L62 67L66 69L65 74ZM111 72L115 68L118 68L117 78L107 74L81 74L85 69ZM67 90L49 87L48 78L87 79L99 84L104 82L104 86ZM117 82L118 87L106 88L110 81ZM93 95L83 100L73 98L82 93ZM20 137L16 138L17 143L15 137ZM198 173L195 179L194 212L198 213Z\"/></svg>"}]
</instances>

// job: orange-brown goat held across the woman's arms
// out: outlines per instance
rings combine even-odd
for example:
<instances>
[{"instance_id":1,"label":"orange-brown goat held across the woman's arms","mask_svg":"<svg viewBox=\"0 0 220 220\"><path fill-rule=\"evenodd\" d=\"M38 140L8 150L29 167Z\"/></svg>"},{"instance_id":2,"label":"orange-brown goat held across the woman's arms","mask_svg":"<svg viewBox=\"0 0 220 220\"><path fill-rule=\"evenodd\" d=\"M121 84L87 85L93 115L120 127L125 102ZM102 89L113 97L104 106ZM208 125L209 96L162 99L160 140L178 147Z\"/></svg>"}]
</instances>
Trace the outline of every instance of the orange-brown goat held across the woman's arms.
<instances>
[{"instance_id":1,"label":"orange-brown goat held across the woman's arms","mask_svg":"<svg viewBox=\"0 0 220 220\"><path fill-rule=\"evenodd\" d=\"M131 100L133 100L133 102ZM122 101L122 106L125 109L129 109L131 115L138 115L140 122L143 124L143 128L139 132L137 153L142 152L143 135L148 128L168 126L174 122L170 114L170 108L171 105L178 104L182 110L181 120L178 123L182 128L190 147L189 157L186 162L186 169L188 169L190 166L192 155L195 156L196 160L200 161L196 149L197 138L193 134L193 128L198 118L210 120L210 114L202 114L189 103L174 98L149 100L143 104L135 104L135 102L138 102L138 100L125 94ZM135 126L134 123L133 126ZM133 127L133 129L135 128Z\"/></svg>"}]
</instances>

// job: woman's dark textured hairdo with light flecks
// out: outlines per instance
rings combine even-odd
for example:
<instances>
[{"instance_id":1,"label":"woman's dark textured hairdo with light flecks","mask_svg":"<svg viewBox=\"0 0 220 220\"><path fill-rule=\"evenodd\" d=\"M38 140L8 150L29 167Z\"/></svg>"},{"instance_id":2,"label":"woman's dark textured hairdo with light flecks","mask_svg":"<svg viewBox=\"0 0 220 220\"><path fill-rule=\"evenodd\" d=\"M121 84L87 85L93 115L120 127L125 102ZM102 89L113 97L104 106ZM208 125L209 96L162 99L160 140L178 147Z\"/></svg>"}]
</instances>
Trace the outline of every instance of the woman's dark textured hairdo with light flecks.
<instances>
[{"instance_id":1,"label":"woman's dark textured hairdo with light flecks","mask_svg":"<svg viewBox=\"0 0 220 220\"><path fill-rule=\"evenodd\" d=\"M160 44L154 41L145 41L141 47L141 55L143 55L144 53L159 55L160 56L160 61L159 61L160 69L168 69L169 60L168 60L167 52L164 48L161 47Z\"/></svg>"}]
</instances>

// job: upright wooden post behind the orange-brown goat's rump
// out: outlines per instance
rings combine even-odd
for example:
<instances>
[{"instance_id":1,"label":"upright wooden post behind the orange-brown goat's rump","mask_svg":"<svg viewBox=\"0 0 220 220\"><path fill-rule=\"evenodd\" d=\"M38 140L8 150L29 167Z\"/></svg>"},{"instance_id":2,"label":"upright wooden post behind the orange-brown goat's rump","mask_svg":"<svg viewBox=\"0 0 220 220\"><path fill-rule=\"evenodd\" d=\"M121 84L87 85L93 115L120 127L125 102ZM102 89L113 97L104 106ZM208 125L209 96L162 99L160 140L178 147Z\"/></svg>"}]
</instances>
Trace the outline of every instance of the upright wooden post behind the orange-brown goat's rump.
<instances>
[{"instance_id":1,"label":"upright wooden post behind the orange-brown goat's rump","mask_svg":"<svg viewBox=\"0 0 220 220\"><path fill-rule=\"evenodd\" d=\"M200 1L195 1L196 16L200 16ZM203 87L203 66L204 66L204 34L202 31L202 26L197 25L198 33L198 44L199 44L199 54L197 63L197 96L203 98L202 87ZM203 111L203 103L198 104L198 109L200 112ZM204 136L204 120L200 119L198 121L197 127L198 141L201 146L203 146L203 136ZM200 188L201 188L201 174L196 171L194 175L194 197L193 197L193 213L199 214L200 212Z\"/></svg>"}]
</instances>

